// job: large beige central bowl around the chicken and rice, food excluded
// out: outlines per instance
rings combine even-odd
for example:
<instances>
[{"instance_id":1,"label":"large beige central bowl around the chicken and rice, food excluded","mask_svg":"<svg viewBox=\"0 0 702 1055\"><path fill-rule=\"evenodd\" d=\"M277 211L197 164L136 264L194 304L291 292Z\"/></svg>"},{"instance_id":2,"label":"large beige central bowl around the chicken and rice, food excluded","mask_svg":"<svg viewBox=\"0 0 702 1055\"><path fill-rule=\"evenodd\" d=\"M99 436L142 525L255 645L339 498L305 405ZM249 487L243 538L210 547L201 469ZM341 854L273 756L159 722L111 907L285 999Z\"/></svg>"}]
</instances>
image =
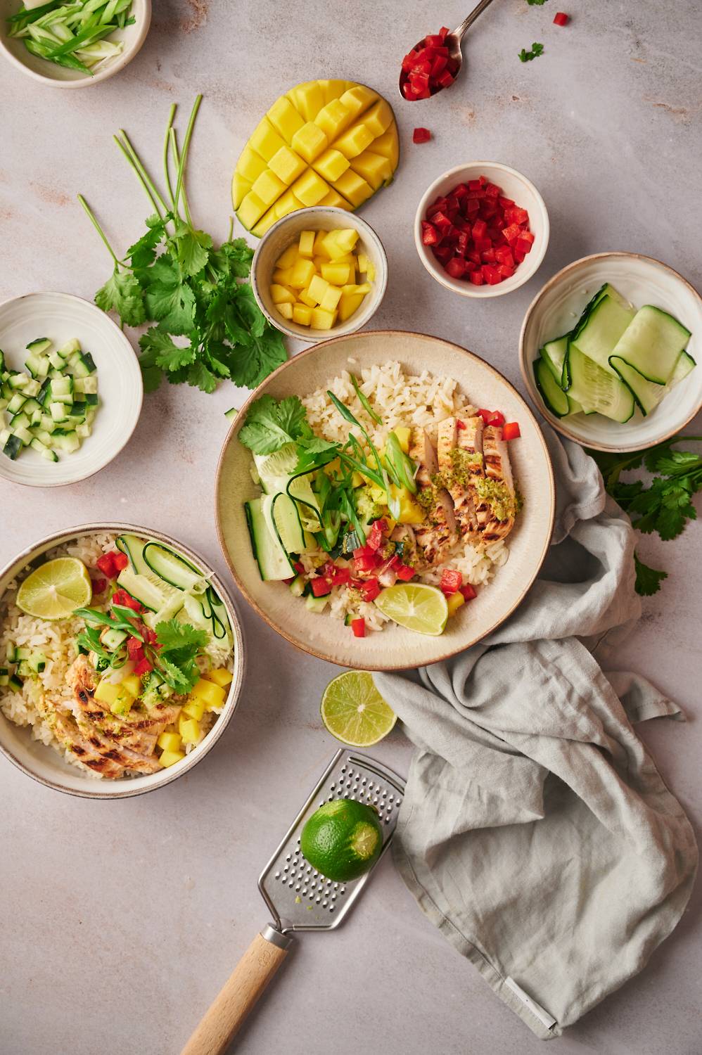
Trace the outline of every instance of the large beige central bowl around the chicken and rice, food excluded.
<instances>
[{"instance_id":1,"label":"large beige central bowl around the chicken and rice, food excluded","mask_svg":"<svg viewBox=\"0 0 702 1055\"><path fill-rule=\"evenodd\" d=\"M449 620L438 637L412 633L395 625L357 638L326 614L309 612L280 582L263 582L251 552L244 502L258 490L251 480L251 455L238 439L249 404L261 396L305 396L325 386L344 369L360 370L399 360L413 375L429 370L455 378L476 406L500 409L516 420L521 438L510 455L524 511L509 537L510 557L490 586ZM349 361L350 364L349 364ZM553 472L536 420L512 385L493 367L458 345L423 333L386 330L355 333L318 344L279 367L253 392L225 440L216 476L215 515L220 542L240 590L266 622L305 652L344 667L402 670L437 663L474 645L514 611L531 587L551 537Z\"/></svg>"}]
</instances>

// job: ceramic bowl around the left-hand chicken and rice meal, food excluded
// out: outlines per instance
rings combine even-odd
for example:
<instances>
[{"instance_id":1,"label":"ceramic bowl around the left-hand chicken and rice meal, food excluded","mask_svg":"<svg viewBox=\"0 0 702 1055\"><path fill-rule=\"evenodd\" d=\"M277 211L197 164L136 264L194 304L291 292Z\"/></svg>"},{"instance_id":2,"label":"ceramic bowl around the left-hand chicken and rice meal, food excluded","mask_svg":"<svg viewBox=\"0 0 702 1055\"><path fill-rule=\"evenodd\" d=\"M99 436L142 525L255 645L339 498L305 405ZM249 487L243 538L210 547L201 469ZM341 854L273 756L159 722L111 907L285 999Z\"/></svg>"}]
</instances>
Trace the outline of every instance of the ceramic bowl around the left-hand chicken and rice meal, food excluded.
<instances>
[{"instance_id":1,"label":"ceramic bowl around the left-hand chicken and rice meal, food excluded","mask_svg":"<svg viewBox=\"0 0 702 1055\"><path fill-rule=\"evenodd\" d=\"M205 736L203 742L193 751L187 754L185 759L182 759L181 762L176 762L175 765L169 766L167 769L162 769L156 773L145 776L127 776L116 781L100 780L92 776L90 773L86 773L78 767L65 762L62 755L53 747L33 740L30 729L21 728L10 722L0 711L0 752L16 765L18 769L26 773L27 776L32 776L34 780L39 781L40 784L45 784L46 787L54 788L57 791L65 791L68 794L80 795L83 799L127 799L131 795L144 794L145 791L153 791L155 788L164 787L164 785L170 784L171 781L176 780L178 776L183 776L193 766L196 766L207 752L214 747L234 712L242 690L244 680L244 638L231 597L222 581L208 568L203 558L182 542L171 538L170 535L164 535L163 532L150 531L146 528L135 526L134 524L81 524L78 528L70 528L46 536L41 541L36 542L18 554L10 564L0 571L0 602L8 583L31 561L41 557L48 550L63 545L78 536L92 535L96 532L110 532L116 535L129 532L130 534L139 535L145 538L157 539L159 542L164 542L166 545L177 550L192 564L202 570L204 575L210 578L212 586L227 610L234 640L233 678L229 686L229 692L222 714L207 736ZM0 693L2 691L0 689Z\"/></svg>"}]
</instances>

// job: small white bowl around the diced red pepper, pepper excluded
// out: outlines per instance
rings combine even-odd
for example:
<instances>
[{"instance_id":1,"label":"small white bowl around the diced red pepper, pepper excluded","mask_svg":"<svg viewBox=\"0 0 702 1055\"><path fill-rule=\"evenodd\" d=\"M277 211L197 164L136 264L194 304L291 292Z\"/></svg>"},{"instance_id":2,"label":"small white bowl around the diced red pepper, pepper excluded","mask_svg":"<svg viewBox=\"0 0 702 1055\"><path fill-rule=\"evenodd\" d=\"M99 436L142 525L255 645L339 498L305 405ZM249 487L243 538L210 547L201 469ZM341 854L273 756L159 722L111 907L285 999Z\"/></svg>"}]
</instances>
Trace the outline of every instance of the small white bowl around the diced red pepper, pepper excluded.
<instances>
[{"instance_id":1,"label":"small white bowl around the diced red pepper, pepper excluded","mask_svg":"<svg viewBox=\"0 0 702 1055\"><path fill-rule=\"evenodd\" d=\"M486 176L491 184L496 184L501 188L505 197L512 198L515 205L527 210L529 228L534 235L531 252L527 253L511 279L505 279L496 286L474 286L468 280L452 279L444 271L440 261L437 261L431 247L423 245L421 241L421 222L425 218L429 206L437 197L448 194L458 184L468 183L469 179L477 179L478 176ZM454 293L460 293L461 296L486 300L490 296L502 296L505 293L511 293L519 286L524 286L540 267L548 244L549 214L544 198L531 180L527 179L520 172L517 172L516 169L510 169L507 165L499 165L497 161L470 161L467 165L457 165L455 169L449 169L429 187L419 203L415 216L415 245L419 260L433 279L436 279L447 289L452 289Z\"/></svg>"}]
</instances>

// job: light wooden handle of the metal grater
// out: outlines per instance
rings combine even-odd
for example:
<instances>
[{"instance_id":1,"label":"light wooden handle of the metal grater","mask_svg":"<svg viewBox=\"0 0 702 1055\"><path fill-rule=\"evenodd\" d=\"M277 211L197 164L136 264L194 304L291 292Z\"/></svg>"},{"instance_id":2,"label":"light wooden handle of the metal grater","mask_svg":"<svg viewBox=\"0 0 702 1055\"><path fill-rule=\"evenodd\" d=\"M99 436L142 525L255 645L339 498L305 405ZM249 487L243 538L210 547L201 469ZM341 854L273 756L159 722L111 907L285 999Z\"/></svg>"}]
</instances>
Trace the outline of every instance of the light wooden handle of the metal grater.
<instances>
[{"instance_id":1,"label":"light wooden handle of the metal grater","mask_svg":"<svg viewBox=\"0 0 702 1055\"><path fill-rule=\"evenodd\" d=\"M272 927L258 934L210 1004L182 1055L224 1055L287 956L290 939Z\"/></svg>"}]
</instances>

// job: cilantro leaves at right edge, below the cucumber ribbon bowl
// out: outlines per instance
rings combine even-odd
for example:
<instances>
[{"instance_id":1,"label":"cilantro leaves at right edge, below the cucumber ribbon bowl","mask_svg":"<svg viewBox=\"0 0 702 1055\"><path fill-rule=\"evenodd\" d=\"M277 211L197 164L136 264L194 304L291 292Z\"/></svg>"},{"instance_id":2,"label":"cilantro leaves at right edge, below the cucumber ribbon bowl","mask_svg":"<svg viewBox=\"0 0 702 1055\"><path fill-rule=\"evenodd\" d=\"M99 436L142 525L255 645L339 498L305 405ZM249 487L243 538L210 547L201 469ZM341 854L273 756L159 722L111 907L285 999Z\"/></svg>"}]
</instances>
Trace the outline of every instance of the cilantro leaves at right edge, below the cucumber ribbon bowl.
<instances>
[{"instance_id":1,"label":"cilantro leaves at right edge, below the cucumber ribbon bowl","mask_svg":"<svg viewBox=\"0 0 702 1055\"><path fill-rule=\"evenodd\" d=\"M692 496L702 491L702 456L692 450L676 450L675 444L702 442L702 436L673 436L646 450L631 454L608 454L590 450L600 471L605 487L631 523L645 535L657 532L664 542L677 538L689 520L697 519ZM652 474L646 484L643 480L625 481L622 473L645 467ZM648 568L634 554L637 593L650 596L658 593L666 572Z\"/></svg>"}]
</instances>

